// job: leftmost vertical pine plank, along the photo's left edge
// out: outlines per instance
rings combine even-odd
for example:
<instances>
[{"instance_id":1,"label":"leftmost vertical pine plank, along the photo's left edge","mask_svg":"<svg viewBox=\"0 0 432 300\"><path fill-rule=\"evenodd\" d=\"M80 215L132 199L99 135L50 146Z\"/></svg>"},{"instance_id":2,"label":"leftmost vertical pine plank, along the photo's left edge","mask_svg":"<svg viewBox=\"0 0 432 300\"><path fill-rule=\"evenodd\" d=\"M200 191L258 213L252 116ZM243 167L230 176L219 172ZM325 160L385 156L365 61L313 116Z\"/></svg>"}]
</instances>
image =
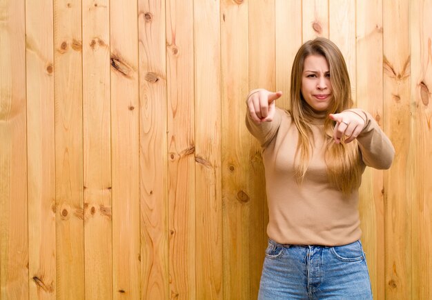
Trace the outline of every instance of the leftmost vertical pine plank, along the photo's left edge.
<instances>
[{"instance_id":1,"label":"leftmost vertical pine plank, along the photo's left edge","mask_svg":"<svg viewBox=\"0 0 432 300\"><path fill-rule=\"evenodd\" d=\"M0 297L28 298L25 1L0 3Z\"/></svg>"}]
</instances>

